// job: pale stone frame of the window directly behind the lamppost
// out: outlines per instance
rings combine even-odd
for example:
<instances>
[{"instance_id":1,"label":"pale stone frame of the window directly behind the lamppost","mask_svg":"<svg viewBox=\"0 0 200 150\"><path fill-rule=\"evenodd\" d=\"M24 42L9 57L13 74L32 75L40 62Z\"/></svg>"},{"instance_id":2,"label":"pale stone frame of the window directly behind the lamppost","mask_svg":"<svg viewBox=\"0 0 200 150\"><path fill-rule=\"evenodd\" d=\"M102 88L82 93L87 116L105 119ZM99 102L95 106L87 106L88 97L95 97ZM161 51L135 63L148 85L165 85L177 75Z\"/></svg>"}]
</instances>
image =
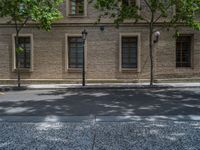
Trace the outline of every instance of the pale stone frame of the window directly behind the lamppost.
<instances>
[{"instance_id":1,"label":"pale stone frame of the window directly behind the lamppost","mask_svg":"<svg viewBox=\"0 0 200 150\"><path fill-rule=\"evenodd\" d=\"M69 67L69 37L82 37L82 34L65 34L65 72L81 72L82 68ZM87 71L87 39L84 45L85 51L85 71Z\"/></svg>"}]
</instances>

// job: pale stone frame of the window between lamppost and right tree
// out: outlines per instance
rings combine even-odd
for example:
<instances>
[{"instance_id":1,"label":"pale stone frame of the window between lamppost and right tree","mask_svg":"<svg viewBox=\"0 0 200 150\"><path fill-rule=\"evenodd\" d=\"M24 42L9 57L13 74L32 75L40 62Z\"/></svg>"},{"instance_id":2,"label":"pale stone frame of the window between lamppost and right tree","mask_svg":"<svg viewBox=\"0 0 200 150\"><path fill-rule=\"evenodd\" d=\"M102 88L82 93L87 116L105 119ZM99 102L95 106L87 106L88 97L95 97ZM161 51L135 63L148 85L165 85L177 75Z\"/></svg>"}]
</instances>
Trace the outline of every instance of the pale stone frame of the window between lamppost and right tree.
<instances>
[{"instance_id":1,"label":"pale stone frame of the window between lamppost and right tree","mask_svg":"<svg viewBox=\"0 0 200 150\"><path fill-rule=\"evenodd\" d=\"M122 67L122 38L123 37L137 37L137 68L123 68ZM120 33L119 36L119 71L133 71L141 72L141 34L140 33Z\"/></svg>"}]
</instances>

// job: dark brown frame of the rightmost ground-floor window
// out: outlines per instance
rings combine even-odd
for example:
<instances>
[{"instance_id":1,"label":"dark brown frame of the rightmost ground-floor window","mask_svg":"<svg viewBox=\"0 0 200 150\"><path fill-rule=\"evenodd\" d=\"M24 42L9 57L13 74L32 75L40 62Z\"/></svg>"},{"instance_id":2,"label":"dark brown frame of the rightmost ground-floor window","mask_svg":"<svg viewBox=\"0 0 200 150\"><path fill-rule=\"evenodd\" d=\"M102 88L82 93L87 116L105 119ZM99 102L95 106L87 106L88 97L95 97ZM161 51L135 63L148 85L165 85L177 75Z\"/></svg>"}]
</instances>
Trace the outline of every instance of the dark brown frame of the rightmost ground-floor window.
<instances>
[{"instance_id":1,"label":"dark brown frame of the rightmost ground-floor window","mask_svg":"<svg viewBox=\"0 0 200 150\"><path fill-rule=\"evenodd\" d=\"M175 40L175 67L176 69L192 69L193 64L194 64L194 34L180 34L179 37L181 36L187 36L191 38L191 43L190 43L190 66L189 67L177 67L177 39Z\"/></svg>"}]
</instances>

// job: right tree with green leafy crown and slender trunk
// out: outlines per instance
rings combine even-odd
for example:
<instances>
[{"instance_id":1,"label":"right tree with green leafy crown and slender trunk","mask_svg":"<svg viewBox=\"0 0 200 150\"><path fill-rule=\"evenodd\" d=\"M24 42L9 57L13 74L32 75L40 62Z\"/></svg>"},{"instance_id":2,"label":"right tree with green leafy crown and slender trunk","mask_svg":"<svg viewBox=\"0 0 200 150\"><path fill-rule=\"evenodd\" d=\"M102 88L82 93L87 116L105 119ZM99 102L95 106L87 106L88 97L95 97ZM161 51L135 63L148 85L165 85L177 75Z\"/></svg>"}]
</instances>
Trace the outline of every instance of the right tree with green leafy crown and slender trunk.
<instances>
[{"instance_id":1,"label":"right tree with green leafy crown and slender trunk","mask_svg":"<svg viewBox=\"0 0 200 150\"><path fill-rule=\"evenodd\" d=\"M157 24L162 22L163 29L187 26L200 30L200 0L141 0L144 6L138 6L132 0L96 0L95 8L102 13L98 18L100 22L104 16L114 18L117 27L125 20L134 20L135 23L145 22L149 28L149 54L150 54L150 85L154 82L154 33ZM135 1L136 2L136 1ZM174 11L176 10L176 11ZM139 11L141 13L139 13ZM178 31L178 30L177 30ZM177 32L178 33L178 32Z\"/></svg>"}]
</instances>

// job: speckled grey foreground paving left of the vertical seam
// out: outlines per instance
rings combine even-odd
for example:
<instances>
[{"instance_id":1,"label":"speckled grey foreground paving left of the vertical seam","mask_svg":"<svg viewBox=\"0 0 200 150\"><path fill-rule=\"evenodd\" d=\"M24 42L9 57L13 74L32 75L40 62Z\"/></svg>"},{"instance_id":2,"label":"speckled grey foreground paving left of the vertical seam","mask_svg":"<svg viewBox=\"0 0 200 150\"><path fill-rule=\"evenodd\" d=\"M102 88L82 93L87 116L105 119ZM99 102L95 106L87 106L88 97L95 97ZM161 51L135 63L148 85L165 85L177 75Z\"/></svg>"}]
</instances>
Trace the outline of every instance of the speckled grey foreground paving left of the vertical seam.
<instances>
[{"instance_id":1,"label":"speckled grey foreground paving left of the vertical seam","mask_svg":"<svg viewBox=\"0 0 200 150\"><path fill-rule=\"evenodd\" d=\"M0 149L89 150L92 132L88 123L0 123Z\"/></svg>"}]
</instances>

